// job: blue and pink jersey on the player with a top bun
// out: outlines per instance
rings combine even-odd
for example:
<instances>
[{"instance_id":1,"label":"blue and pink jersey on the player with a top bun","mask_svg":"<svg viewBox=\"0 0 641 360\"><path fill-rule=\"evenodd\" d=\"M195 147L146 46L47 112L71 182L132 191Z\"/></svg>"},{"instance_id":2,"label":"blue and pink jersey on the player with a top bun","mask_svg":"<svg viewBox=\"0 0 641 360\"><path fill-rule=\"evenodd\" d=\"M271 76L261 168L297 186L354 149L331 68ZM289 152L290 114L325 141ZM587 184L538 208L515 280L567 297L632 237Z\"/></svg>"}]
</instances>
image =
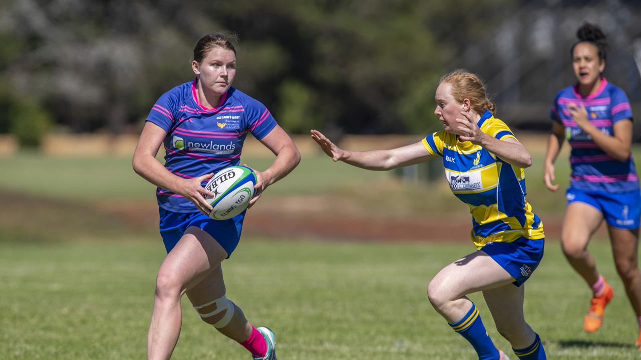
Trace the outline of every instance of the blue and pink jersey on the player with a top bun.
<instances>
[{"instance_id":1,"label":"blue and pink jersey on the player with a top bun","mask_svg":"<svg viewBox=\"0 0 641 360\"><path fill-rule=\"evenodd\" d=\"M620 120L632 120L626 93L601 78L601 86L583 97L576 86L561 90L550 110L552 120L565 126L565 138L570 143L570 186L587 191L629 192L639 188L637 170L630 154L626 161L617 161L592 141L567 111L567 104L585 106L588 120L606 135L613 135L612 126Z\"/></svg>"}]
</instances>

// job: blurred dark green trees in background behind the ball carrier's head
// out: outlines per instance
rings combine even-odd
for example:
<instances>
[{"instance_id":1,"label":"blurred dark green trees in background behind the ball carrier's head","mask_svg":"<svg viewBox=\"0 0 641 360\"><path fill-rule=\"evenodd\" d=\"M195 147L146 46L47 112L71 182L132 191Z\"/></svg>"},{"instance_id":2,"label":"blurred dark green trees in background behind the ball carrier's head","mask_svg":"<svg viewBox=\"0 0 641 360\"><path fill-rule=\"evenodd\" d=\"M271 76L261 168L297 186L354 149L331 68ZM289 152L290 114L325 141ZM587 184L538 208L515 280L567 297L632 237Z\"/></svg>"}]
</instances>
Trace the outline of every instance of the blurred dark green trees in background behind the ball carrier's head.
<instances>
[{"instance_id":1,"label":"blurred dark green trees in background behind the ball carrier's head","mask_svg":"<svg viewBox=\"0 0 641 360\"><path fill-rule=\"evenodd\" d=\"M4 1L0 132L25 117L74 132L137 132L163 92L194 77L196 40L219 29L240 35L234 86L286 129L425 132L440 76L512 3Z\"/></svg>"}]
</instances>

